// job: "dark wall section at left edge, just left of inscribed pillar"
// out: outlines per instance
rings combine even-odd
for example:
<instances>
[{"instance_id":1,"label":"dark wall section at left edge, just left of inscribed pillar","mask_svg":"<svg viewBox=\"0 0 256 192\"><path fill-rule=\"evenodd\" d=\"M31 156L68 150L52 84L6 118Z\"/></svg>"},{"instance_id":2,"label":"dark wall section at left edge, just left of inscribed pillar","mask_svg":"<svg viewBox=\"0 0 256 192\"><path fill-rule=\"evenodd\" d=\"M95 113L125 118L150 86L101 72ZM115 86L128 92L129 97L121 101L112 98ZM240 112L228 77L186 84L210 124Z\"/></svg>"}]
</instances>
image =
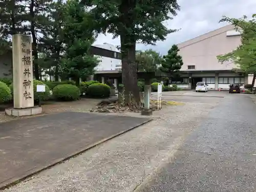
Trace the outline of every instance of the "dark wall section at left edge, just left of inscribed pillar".
<instances>
[{"instance_id":1,"label":"dark wall section at left edge, just left of inscribed pillar","mask_svg":"<svg viewBox=\"0 0 256 192\"><path fill-rule=\"evenodd\" d=\"M12 77L12 54L7 53L0 55L0 78Z\"/></svg>"}]
</instances>

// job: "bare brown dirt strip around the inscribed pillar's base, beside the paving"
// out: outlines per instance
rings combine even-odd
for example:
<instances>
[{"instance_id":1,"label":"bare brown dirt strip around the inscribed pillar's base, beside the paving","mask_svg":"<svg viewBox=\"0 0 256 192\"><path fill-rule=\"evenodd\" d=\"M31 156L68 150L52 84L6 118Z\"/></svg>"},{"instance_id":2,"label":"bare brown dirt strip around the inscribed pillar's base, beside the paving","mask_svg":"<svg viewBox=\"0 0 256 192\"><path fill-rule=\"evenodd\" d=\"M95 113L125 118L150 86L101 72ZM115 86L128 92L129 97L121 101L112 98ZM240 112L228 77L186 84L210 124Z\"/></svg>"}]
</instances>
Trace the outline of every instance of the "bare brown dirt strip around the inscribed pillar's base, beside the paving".
<instances>
[{"instance_id":1,"label":"bare brown dirt strip around the inscribed pillar's base, beside the paving","mask_svg":"<svg viewBox=\"0 0 256 192\"><path fill-rule=\"evenodd\" d=\"M81 98L77 101L69 101L69 102L56 102L56 101L47 101L42 103L42 114L53 114L59 112L73 111L73 112L90 112L92 108L101 101L102 99L89 99L89 98ZM39 116L40 116L39 115ZM38 116L38 115L36 115ZM0 123L12 121L16 119L24 119L31 118L35 116L25 116L25 117L13 117L6 116L5 111L0 112Z\"/></svg>"}]
</instances>

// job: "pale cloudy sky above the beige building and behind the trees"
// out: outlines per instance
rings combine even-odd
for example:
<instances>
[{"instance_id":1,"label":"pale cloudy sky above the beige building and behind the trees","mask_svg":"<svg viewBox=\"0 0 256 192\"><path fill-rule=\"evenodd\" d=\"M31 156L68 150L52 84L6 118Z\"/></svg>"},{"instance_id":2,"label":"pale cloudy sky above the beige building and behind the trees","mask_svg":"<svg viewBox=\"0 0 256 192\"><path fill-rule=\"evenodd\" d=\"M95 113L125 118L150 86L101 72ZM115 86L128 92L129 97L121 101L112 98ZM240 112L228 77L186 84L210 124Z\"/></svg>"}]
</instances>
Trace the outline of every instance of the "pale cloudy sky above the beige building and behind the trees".
<instances>
[{"instance_id":1,"label":"pale cloudy sky above the beige building and behind the trees","mask_svg":"<svg viewBox=\"0 0 256 192\"><path fill-rule=\"evenodd\" d=\"M218 29L226 24L219 23L223 15L239 18L243 15L251 16L256 13L256 0L179 0L181 11L173 20L165 25L171 29L181 29L169 34L165 41L157 42L156 46L137 45L137 49L153 49L165 54L173 44L202 35ZM95 44L107 42L115 46L120 45L120 39L112 39L111 34L100 35Z\"/></svg>"}]
</instances>

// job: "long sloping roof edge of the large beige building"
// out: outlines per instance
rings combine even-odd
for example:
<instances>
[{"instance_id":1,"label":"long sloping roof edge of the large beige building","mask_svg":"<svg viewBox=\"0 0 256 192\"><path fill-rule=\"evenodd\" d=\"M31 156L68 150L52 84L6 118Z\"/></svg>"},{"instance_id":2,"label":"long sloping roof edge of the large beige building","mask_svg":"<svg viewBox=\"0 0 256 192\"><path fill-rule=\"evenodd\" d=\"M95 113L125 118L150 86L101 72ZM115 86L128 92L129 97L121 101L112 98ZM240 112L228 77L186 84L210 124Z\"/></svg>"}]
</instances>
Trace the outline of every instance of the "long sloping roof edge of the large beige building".
<instances>
[{"instance_id":1,"label":"long sloping roof edge of the large beige building","mask_svg":"<svg viewBox=\"0 0 256 192\"><path fill-rule=\"evenodd\" d=\"M181 49L183 47L189 46L191 44L195 44L196 42L202 41L204 39L210 38L212 36L219 35L221 33L224 33L226 31L230 31L230 30L233 30L233 29L234 29L234 27L232 25L226 25L226 26L221 27L219 29L216 29L214 31L210 31L208 33L202 34L202 35L197 36L195 38L192 38L192 39L186 40L184 42L181 42L180 44L178 44L178 47L179 47L179 49Z\"/></svg>"}]
</instances>

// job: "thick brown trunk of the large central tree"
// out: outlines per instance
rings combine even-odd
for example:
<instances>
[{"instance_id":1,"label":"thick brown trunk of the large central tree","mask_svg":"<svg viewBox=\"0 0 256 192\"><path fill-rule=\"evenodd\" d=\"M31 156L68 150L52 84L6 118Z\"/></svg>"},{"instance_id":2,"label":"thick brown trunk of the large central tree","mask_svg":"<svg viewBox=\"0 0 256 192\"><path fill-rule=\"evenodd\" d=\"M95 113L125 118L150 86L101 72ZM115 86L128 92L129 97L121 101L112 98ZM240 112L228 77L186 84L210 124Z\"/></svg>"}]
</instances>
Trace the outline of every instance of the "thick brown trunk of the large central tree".
<instances>
[{"instance_id":1,"label":"thick brown trunk of the large central tree","mask_svg":"<svg viewBox=\"0 0 256 192\"><path fill-rule=\"evenodd\" d=\"M122 83L124 86L124 105L130 109L141 106L138 88L137 65L135 63L136 41L131 42L125 35L120 35L122 56Z\"/></svg>"}]
</instances>

